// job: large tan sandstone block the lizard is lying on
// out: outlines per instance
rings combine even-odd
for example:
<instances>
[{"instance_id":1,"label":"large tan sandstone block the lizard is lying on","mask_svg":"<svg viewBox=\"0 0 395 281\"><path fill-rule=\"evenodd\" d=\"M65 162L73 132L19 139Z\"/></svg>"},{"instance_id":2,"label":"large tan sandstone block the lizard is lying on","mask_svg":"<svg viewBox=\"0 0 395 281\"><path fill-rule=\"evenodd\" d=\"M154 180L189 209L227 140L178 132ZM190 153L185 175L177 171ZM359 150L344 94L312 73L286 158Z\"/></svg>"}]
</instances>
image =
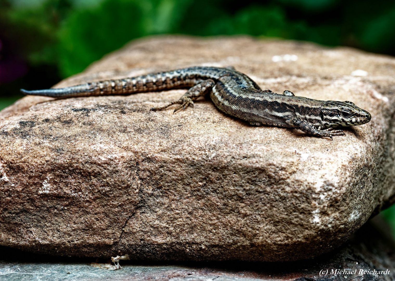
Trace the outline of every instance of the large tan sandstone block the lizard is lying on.
<instances>
[{"instance_id":1,"label":"large tan sandstone block the lizard is lying on","mask_svg":"<svg viewBox=\"0 0 395 281\"><path fill-rule=\"evenodd\" d=\"M0 113L0 245L144 260L297 260L338 247L395 200L393 57L296 41L154 37L56 87L193 65L233 65L274 92L350 100L372 120L331 141L251 127L208 99L174 115L149 111L182 90L27 96Z\"/></svg>"}]
</instances>

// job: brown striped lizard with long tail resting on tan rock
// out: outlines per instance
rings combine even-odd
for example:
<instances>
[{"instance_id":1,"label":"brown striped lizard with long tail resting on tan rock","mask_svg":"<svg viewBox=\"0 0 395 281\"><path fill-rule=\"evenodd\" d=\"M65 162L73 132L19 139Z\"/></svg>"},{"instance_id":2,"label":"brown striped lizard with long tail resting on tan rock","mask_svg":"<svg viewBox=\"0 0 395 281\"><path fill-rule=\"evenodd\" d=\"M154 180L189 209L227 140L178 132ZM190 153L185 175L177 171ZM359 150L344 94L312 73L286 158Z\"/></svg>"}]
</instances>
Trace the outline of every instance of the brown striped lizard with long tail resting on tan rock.
<instances>
[{"instance_id":1,"label":"brown striped lizard with long tail resting on tan rock","mask_svg":"<svg viewBox=\"0 0 395 281\"><path fill-rule=\"evenodd\" d=\"M124 79L90 82L61 89L26 91L24 94L69 98L133 94L138 92L188 89L179 100L166 106L153 107L159 111L179 104L173 113L188 106L200 96L210 94L214 105L231 116L248 121L253 126L271 125L298 128L316 137L345 135L333 128L357 126L368 123L371 114L353 102L314 100L295 96L291 91L277 94L262 90L250 77L233 67L194 66L141 75Z\"/></svg>"}]
</instances>

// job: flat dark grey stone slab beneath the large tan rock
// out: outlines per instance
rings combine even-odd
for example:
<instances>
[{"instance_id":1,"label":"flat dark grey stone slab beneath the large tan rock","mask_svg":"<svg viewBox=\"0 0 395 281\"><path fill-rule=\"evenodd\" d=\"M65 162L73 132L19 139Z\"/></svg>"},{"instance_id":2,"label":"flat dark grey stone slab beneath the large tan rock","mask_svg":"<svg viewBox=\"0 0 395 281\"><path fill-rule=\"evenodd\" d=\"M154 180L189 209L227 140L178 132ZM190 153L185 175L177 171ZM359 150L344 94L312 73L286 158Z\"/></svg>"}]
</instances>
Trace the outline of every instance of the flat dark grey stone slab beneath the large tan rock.
<instances>
[{"instance_id":1,"label":"flat dark grey stone slab beneath the large tan rock","mask_svg":"<svg viewBox=\"0 0 395 281\"><path fill-rule=\"evenodd\" d=\"M386 225L383 225L379 217L375 217L340 248L312 260L181 264L167 262L125 264L121 261L123 268L116 271L89 266L88 264L96 261L95 258L32 255L12 248L0 247L0 280L393 281L395 280L395 247L394 241L386 234L388 234ZM326 270L328 270L327 274L325 274ZM336 270L345 270L346 273L340 274Z\"/></svg>"}]
</instances>

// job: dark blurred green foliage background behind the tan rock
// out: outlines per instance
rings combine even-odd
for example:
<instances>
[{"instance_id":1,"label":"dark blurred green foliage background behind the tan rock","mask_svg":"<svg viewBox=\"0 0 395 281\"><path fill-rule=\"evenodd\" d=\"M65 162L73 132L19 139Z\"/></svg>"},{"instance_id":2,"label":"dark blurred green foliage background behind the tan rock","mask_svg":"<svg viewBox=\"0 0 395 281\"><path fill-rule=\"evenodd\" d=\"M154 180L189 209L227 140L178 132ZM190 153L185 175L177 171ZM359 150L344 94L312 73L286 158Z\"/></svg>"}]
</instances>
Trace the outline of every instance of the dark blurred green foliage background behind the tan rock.
<instances>
[{"instance_id":1,"label":"dark blurred green foliage background behind the tan rock","mask_svg":"<svg viewBox=\"0 0 395 281\"><path fill-rule=\"evenodd\" d=\"M163 33L250 34L395 55L395 1L0 0L0 109L20 88L49 88L134 38ZM382 215L395 233L395 207Z\"/></svg>"}]
</instances>

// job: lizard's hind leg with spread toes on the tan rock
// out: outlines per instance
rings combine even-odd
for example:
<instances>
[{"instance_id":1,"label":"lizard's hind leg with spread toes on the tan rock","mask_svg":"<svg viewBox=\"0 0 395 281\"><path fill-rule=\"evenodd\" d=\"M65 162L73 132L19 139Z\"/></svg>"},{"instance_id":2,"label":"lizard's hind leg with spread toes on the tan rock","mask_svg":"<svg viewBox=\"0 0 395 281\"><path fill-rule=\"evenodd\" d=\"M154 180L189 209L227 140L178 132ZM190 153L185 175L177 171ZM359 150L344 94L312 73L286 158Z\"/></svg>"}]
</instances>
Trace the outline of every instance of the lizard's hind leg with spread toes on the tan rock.
<instances>
[{"instance_id":1,"label":"lizard's hind leg with spread toes on the tan rock","mask_svg":"<svg viewBox=\"0 0 395 281\"><path fill-rule=\"evenodd\" d=\"M183 108L185 109L188 106L194 106L194 100L199 98L199 96L204 96L207 94L207 92L211 91L213 89L215 83L213 79L207 79L204 80L203 82L195 85L194 87L190 88L188 91L186 91L185 94L181 96L179 100L176 100L174 102L171 102L167 104L166 106L162 107L152 107L150 110L152 111L159 111L166 109L169 106L172 106L173 104L181 104L179 107L174 109L173 113L175 113L177 110Z\"/></svg>"}]
</instances>

